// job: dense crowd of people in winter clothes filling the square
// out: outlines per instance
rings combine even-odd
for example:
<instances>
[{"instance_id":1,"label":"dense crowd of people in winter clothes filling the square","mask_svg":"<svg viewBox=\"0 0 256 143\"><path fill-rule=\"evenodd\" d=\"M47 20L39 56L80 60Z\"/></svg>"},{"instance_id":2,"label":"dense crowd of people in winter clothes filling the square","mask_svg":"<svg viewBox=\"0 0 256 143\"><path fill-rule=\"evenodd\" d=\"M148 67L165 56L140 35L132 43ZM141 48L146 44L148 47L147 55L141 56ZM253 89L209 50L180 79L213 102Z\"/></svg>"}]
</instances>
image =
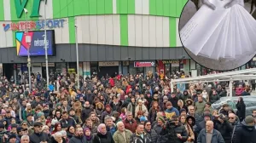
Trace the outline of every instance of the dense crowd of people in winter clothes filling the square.
<instances>
[{"instance_id":1,"label":"dense crowd of people in winter clothes filling the square","mask_svg":"<svg viewBox=\"0 0 256 143\"><path fill-rule=\"evenodd\" d=\"M242 96L237 112L228 104L212 108L227 96L226 83L171 91L168 78L152 72L94 75L79 87L68 74L51 76L49 87L39 74L32 74L31 89L26 83L0 78L0 143L256 142L256 109L246 117Z\"/></svg>"}]
</instances>

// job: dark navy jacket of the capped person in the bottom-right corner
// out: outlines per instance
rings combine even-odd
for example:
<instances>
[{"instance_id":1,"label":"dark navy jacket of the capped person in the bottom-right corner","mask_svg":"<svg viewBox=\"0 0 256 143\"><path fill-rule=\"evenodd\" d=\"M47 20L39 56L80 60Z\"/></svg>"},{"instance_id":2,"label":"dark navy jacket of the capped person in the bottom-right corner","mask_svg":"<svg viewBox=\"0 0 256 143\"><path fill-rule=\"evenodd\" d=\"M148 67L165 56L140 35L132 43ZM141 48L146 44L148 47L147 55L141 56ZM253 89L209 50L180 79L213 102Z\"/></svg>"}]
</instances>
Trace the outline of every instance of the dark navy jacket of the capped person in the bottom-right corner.
<instances>
[{"instance_id":1,"label":"dark navy jacket of the capped person in the bottom-right corner","mask_svg":"<svg viewBox=\"0 0 256 143\"><path fill-rule=\"evenodd\" d=\"M234 143L255 143L256 129L254 126L248 126L244 121L241 122L241 128L236 130L236 139Z\"/></svg>"}]
</instances>

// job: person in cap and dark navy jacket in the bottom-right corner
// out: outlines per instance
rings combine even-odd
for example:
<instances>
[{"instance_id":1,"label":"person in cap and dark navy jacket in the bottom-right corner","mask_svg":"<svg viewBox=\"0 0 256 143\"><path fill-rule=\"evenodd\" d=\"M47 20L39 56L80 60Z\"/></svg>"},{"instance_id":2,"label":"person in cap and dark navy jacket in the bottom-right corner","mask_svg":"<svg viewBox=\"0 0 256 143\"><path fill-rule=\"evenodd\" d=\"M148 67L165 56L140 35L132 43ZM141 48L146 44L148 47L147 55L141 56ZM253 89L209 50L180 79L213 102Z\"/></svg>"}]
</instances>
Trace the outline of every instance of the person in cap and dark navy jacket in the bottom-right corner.
<instances>
[{"instance_id":1,"label":"person in cap and dark navy jacket in the bottom-right corner","mask_svg":"<svg viewBox=\"0 0 256 143\"><path fill-rule=\"evenodd\" d=\"M254 118L252 116L247 116L241 122L241 128L236 130L235 143L241 142L255 142L256 140L256 129Z\"/></svg>"}]
</instances>

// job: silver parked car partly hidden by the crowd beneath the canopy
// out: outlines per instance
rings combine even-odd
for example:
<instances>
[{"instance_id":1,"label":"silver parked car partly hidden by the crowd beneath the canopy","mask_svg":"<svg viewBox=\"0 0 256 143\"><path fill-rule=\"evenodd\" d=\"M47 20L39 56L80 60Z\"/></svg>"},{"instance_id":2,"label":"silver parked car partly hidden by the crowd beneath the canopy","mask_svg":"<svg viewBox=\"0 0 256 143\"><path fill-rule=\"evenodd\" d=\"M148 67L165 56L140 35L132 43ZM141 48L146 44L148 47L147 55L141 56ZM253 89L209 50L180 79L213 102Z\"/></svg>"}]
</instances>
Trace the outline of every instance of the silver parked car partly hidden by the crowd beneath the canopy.
<instances>
[{"instance_id":1,"label":"silver parked car partly hidden by the crowd beneath the canopy","mask_svg":"<svg viewBox=\"0 0 256 143\"><path fill-rule=\"evenodd\" d=\"M221 109L222 105L228 104L234 110L236 109L236 103L239 97L242 97L244 100L246 107L246 116L252 115L253 109L256 109L256 96L255 95L248 95L248 96L233 96L233 97L222 97L220 100L217 100L212 104L212 108L219 110Z\"/></svg>"}]
</instances>

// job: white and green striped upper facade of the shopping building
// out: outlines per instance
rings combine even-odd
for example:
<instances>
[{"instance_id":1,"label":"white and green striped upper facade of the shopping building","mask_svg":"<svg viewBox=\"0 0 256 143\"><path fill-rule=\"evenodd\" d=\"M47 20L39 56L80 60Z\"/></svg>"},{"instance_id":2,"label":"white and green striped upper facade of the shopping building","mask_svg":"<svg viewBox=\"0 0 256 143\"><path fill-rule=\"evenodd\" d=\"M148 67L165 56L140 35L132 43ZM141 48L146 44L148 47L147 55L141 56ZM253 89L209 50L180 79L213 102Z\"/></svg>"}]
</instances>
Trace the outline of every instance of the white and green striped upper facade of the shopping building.
<instances>
[{"instance_id":1,"label":"white and green striped upper facade of the shopping building","mask_svg":"<svg viewBox=\"0 0 256 143\"><path fill-rule=\"evenodd\" d=\"M26 20L24 12L17 17L15 1L19 0L0 0L1 26ZM27 0L28 15L35 1ZM63 28L55 28L57 44L75 43L76 22L79 43L179 47L177 24L185 3L187 0L48 0L46 18L65 20ZM39 14L44 15L44 1ZM28 20L44 20L44 16L28 16ZM0 29L0 37L0 48L15 47L15 31Z\"/></svg>"}]
</instances>

